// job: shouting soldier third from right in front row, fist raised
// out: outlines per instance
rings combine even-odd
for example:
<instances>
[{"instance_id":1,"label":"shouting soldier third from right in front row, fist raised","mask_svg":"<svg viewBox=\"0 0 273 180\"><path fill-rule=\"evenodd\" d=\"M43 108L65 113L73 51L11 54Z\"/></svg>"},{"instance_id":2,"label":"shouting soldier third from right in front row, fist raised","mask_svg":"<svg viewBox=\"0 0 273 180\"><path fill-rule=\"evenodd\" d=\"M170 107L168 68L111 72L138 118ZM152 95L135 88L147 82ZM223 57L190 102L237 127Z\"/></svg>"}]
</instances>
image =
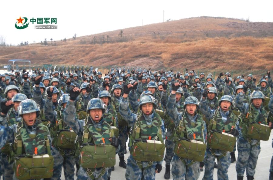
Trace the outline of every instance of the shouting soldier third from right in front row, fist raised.
<instances>
[{"instance_id":1,"label":"shouting soldier third from right in front row, fist raised","mask_svg":"<svg viewBox=\"0 0 273 180\"><path fill-rule=\"evenodd\" d=\"M206 136L206 124L202 120L202 116L197 113L199 102L196 97L187 97L182 112L178 112L175 102L175 94L179 89L179 83L172 84L172 92L168 99L167 111L170 118L173 119L174 124L178 127L175 130L175 154L172 159L172 175L173 179L194 179L197 180L200 176L199 162L204 159L205 154L205 136ZM183 112L184 111L184 112ZM203 143L200 147L202 150L201 159L194 159L194 156L183 156L183 148L179 149L180 143L187 143L187 141L197 140ZM198 146L197 142L192 142L190 146ZM181 145L181 144L180 144ZM178 148L177 148L178 147ZM181 152L182 151L182 152ZM190 150L189 150L190 151ZM181 154L179 153L181 152ZM184 154L187 151L184 151ZM199 158L199 155L197 157ZM198 161L195 161L198 160ZM166 165L167 169L167 165Z\"/></svg>"}]
</instances>

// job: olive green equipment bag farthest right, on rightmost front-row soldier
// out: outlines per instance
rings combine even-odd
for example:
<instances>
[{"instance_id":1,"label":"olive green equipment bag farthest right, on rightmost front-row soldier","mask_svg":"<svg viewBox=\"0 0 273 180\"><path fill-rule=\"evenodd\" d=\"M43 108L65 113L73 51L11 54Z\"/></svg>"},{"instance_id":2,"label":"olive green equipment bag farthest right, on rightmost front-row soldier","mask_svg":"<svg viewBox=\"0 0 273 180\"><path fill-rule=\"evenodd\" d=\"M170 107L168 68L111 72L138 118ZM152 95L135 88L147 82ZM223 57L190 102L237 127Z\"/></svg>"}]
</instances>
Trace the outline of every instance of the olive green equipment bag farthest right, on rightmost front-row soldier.
<instances>
[{"instance_id":1,"label":"olive green equipment bag farthest right, on rightmost front-row soldier","mask_svg":"<svg viewBox=\"0 0 273 180\"><path fill-rule=\"evenodd\" d=\"M271 133L270 127L265 124L252 122L248 125L247 133L248 138L268 141L270 133Z\"/></svg>"}]
</instances>

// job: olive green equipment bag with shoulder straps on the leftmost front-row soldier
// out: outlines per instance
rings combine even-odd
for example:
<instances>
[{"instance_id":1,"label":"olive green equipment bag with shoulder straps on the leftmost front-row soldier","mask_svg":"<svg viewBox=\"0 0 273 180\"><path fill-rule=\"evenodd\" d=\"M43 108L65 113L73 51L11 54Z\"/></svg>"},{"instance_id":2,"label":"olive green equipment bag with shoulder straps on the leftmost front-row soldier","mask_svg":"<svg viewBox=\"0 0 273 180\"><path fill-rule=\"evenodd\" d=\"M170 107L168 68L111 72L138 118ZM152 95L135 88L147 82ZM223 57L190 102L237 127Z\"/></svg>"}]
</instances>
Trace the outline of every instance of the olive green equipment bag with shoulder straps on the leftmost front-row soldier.
<instances>
[{"instance_id":1,"label":"olive green equipment bag with shoulder straps on the leftmost front-row soldier","mask_svg":"<svg viewBox=\"0 0 273 180\"><path fill-rule=\"evenodd\" d=\"M22 155L23 144L20 136L18 136L18 139L15 142L15 146L17 146L17 156L14 157L13 164L13 170L16 178L24 180L52 177L54 159L51 155L49 139L47 136L44 136L44 138L48 154L27 157Z\"/></svg>"}]
</instances>

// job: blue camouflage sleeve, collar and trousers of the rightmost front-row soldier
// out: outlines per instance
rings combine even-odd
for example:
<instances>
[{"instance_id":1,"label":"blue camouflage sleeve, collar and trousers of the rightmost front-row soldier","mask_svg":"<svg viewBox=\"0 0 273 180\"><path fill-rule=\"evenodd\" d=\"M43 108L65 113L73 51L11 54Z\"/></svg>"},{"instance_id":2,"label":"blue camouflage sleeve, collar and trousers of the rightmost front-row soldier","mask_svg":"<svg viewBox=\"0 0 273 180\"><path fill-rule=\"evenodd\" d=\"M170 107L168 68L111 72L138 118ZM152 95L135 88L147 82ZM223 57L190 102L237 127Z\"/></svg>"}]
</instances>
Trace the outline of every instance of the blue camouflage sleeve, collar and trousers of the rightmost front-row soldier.
<instances>
[{"instance_id":1,"label":"blue camouflage sleeve, collar and trousers of the rightmost front-row soldier","mask_svg":"<svg viewBox=\"0 0 273 180\"><path fill-rule=\"evenodd\" d=\"M255 111L255 114L261 114L262 109L264 109L262 105L259 109L255 108L253 105L250 107L248 103L243 103L244 96L245 94L240 92L235 99L235 105L242 113L242 116L247 115L249 108L251 108L252 111ZM262 121L260 118L257 119L256 115L253 116L253 119L255 122ZM240 133L237 140L238 160L236 162L236 172L237 176L243 176L244 171L246 170L246 175L254 176L258 155L261 152L260 140L249 139L248 142L244 136L243 133Z\"/></svg>"}]
</instances>

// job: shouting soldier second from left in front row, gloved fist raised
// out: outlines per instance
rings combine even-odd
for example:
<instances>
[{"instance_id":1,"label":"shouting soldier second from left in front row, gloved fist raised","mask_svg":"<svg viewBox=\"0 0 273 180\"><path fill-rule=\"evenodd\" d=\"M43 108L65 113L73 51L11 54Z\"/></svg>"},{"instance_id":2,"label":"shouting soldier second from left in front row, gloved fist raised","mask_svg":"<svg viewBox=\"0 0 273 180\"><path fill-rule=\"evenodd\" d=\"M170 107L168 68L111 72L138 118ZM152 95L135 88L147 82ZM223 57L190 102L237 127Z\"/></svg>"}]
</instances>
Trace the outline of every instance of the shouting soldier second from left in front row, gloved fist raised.
<instances>
[{"instance_id":1,"label":"shouting soldier second from left in front row, gloved fist raised","mask_svg":"<svg viewBox=\"0 0 273 180\"><path fill-rule=\"evenodd\" d=\"M79 120L76 118L74 101L79 93L79 88L77 87L70 91L69 102L66 104L63 113L64 122L79 136L78 143L79 147L81 147L78 150L80 151L81 163L78 179L107 179L108 168L115 164L115 160L106 159L105 163L101 162L101 158L99 157L102 154L99 155L99 153L103 153L104 155L106 152L111 158L115 159L115 151L119 143L110 125L103 118L105 105L103 105L102 100L99 98L93 98L89 101L86 110L88 117L86 119ZM90 158L90 156L96 157L96 154L92 153L92 151L96 153L95 148L99 155L97 161ZM90 150L88 151L88 149Z\"/></svg>"}]
</instances>

